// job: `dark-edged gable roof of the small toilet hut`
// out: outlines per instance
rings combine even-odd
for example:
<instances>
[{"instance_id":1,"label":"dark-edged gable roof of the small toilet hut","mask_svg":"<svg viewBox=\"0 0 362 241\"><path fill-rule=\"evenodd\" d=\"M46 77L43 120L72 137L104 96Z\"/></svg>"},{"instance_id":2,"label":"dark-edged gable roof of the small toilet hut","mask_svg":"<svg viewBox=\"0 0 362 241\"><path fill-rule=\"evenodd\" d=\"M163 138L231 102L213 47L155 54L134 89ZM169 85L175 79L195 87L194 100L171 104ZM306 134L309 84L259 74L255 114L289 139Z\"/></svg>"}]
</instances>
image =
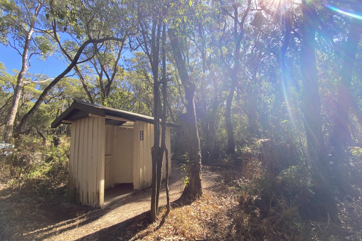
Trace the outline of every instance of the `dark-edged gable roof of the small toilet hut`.
<instances>
[{"instance_id":1,"label":"dark-edged gable roof of the small toilet hut","mask_svg":"<svg viewBox=\"0 0 362 241\"><path fill-rule=\"evenodd\" d=\"M137 113L122 111L120 109L109 108L105 106L98 106L96 104L90 104L80 100L73 100L73 103L67 108L60 116L58 116L52 123L51 128L56 128L62 124L63 120L75 120L81 117L89 116L89 114L96 116L111 116L118 117L128 121L144 121L153 124L153 117L140 115ZM123 120L110 120L111 125L123 125L127 121ZM166 122L167 126L180 127L181 125Z\"/></svg>"}]
</instances>

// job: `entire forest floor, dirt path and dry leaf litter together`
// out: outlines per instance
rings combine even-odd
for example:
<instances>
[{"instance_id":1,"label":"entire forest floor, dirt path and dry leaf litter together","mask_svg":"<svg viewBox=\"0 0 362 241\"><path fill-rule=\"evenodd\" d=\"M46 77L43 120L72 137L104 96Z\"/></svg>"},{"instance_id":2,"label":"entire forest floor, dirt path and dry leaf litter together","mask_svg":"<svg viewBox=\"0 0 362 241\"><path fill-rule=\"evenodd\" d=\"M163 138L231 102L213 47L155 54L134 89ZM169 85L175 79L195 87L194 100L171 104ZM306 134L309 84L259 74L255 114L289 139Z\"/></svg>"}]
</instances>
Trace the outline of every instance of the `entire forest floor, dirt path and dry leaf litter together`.
<instances>
[{"instance_id":1,"label":"entire forest floor, dirt path and dry leaf litter together","mask_svg":"<svg viewBox=\"0 0 362 241\"><path fill-rule=\"evenodd\" d=\"M0 240L361 240L360 231L329 222L300 223L303 232L294 232L290 222L295 220L288 217L294 217L295 208L266 218L254 215L258 213L254 206L239 205L235 180L244 177L238 165L204 165L202 173L203 196L191 201L180 198L182 175L173 168L169 180L172 208L162 225L164 206L157 221L150 222L149 188L104 209L67 203L64 185L33 183L38 186L36 191L30 184L24 184L21 191L2 188ZM160 205L165 202L162 185Z\"/></svg>"}]
</instances>

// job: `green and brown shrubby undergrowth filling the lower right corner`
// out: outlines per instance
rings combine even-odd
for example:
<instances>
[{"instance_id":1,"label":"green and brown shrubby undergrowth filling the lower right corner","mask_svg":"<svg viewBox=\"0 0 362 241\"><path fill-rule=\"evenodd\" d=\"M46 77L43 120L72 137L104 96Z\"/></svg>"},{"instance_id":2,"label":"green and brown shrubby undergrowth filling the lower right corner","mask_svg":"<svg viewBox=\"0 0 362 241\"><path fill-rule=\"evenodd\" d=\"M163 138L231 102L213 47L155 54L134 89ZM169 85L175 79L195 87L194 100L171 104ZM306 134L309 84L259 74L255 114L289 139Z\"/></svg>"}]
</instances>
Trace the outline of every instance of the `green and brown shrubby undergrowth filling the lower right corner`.
<instances>
[{"instance_id":1,"label":"green and brown shrubby undergrowth filling the lower right corner","mask_svg":"<svg viewBox=\"0 0 362 241\"><path fill-rule=\"evenodd\" d=\"M320 215L311 181L309 164L302 159L285 165L287 152L270 155L259 140L252 148L244 148L242 177L235 180L239 195L239 230L245 240L361 240L361 192L343 200L336 199L339 208L339 223L327 221ZM273 143L269 145L278 150ZM256 151L258 150L258 151ZM280 150L280 149L279 149ZM353 155L352 155L353 157ZM359 157L358 157L359 158ZM351 159L353 168L349 173L361 172L361 159ZM282 162L282 163L280 163ZM289 162L291 164L291 162ZM280 168L283 167L284 168ZM275 168L279 166L279 168ZM356 182L352 175L349 182ZM361 188L355 186L358 191ZM313 210L314 212L311 212Z\"/></svg>"}]
</instances>

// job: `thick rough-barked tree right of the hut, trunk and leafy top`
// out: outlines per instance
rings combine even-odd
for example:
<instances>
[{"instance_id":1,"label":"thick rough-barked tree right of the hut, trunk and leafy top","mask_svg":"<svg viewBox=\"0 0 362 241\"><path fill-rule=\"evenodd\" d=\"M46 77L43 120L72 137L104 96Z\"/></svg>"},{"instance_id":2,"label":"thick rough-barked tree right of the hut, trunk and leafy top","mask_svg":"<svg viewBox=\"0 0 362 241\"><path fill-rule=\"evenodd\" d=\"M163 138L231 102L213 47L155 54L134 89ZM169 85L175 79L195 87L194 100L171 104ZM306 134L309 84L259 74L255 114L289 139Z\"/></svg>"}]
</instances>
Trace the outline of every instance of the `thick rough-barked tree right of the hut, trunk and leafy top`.
<instances>
[{"instance_id":1,"label":"thick rough-barked tree right of the hut, trunk and leafy top","mask_svg":"<svg viewBox=\"0 0 362 241\"><path fill-rule=\"evenodd\" d=\"M173 3L172 7L168 37L170 39L173 63L177 68L178 76L185 90L186 117L183 124L188 138L188 158L190 161L188 184L182 192L182 195L201 197L203 194L201 148L195 109L195 92L197 90L197 79L199 76L197 73L193 73L193 68L190 66L190 61L197 56L191 56L188 47L189 34L194 30L193 23L194 17L197 15L197 6L193 5L191 1L188 3L179 1ZM203 52L203 48L201 50L201 52Z\"/></svg>"}]
</instances>

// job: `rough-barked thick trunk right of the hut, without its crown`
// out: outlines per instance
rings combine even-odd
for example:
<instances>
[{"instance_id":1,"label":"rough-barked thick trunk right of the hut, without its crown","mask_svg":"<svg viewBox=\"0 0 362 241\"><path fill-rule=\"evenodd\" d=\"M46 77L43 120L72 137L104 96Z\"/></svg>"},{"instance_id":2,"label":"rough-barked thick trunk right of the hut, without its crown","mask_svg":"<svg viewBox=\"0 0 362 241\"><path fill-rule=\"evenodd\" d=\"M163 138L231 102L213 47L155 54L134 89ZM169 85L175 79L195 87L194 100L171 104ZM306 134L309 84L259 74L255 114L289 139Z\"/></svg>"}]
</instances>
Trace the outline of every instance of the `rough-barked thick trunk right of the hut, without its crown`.
<instances>
[{"instance_id":1,"label":"rough-barked thick trunk right of the hut, without its crown","mask_svg":"<svg viewBox=\"0 0 362 241\"><path fill-rule=\"evenodd\" d=\"M184 122L184 125L186 133L188 135L188 152L191 167L190 172L188 173L189 183L182 192L182 195L200 197L202 195L201 149L195 111L196 86L190 81L190 77L186 69L185 59L182 57L182 52L179 46L179 39L170 29L168 34L173 52L173 58L176 63L176 68L178 70L182 85L185 88L186 120Z\"/></svg>"}]
</instances>

